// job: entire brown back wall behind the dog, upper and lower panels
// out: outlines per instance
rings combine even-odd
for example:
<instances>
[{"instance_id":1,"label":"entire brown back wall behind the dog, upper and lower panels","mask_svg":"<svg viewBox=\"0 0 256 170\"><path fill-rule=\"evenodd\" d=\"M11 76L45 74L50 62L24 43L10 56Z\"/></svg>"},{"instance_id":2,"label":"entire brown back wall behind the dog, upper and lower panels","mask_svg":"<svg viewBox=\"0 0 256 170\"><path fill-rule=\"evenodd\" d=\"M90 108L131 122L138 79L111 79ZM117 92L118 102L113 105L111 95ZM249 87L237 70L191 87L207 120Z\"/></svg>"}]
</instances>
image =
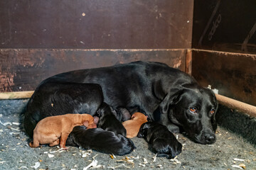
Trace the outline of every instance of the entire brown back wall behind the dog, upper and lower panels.
<instances>
[{"instance_id":1,"label":"entire brown back wall behind the dog, upper and lower panels","mask_svg":"<svg viewBox=\"0 0 256 170\"><path fill-rule=\"evenodd\" d=\"M0 1L0 91L136 60L185 71L192 21L193 0Z\"/></svg>"}]
</instances>

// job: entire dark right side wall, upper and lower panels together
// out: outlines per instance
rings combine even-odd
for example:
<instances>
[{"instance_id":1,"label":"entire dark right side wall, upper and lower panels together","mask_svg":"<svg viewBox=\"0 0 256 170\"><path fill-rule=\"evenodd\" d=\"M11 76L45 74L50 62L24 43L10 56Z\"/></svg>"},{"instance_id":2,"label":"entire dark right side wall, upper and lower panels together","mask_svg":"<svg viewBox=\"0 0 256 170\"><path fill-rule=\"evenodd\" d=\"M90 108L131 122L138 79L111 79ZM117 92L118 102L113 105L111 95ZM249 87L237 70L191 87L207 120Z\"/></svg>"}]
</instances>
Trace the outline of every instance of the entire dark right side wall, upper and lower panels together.
<instances>
[{"instance_id":1,"label":"entire dark right side wall, upper and lower panels together","mask_svg":"<svg viewBox=\"0 0 256 170\"><path fill-rule=\"evenodd\" d=\"M256 1L198 0L192 75L203 86L256 106Z\"/></svg>"}]
</instances>

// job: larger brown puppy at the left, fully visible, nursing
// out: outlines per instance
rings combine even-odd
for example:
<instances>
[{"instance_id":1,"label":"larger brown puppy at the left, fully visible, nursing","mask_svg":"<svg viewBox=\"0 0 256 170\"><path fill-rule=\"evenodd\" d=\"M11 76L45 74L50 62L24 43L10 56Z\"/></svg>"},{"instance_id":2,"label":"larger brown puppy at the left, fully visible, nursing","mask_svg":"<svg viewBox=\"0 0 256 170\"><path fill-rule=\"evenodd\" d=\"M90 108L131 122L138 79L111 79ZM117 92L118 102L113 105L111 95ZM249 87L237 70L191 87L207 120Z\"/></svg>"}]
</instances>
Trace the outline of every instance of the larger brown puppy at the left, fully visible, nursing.
<instances>
[{"instance_id":1,"label":"larger brown puppy at the left, fully visible, nursing","mask_svg":"<svg viewBox=\"0 0 256 170\"><path fill-rule=\"evenodd\" d=\"M33 130L33 142L30 147L49 144L50 147L60 144L65 147L68 135L75 126L85 125L86 128L97 128L92 115L89 114L65 114L55 115L40 120Z\"/></svg>"}]
</instances>

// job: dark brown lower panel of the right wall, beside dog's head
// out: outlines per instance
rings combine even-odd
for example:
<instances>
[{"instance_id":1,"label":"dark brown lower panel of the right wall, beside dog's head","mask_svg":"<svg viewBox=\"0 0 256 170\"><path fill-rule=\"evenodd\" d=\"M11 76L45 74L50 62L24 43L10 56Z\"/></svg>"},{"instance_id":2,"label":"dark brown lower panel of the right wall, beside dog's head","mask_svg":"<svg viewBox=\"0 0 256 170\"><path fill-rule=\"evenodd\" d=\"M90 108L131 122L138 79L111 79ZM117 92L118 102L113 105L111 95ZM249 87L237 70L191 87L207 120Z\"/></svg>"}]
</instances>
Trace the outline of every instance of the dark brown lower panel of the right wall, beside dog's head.
<instances>
[{"instance_id":1,"label":"dark brown lower panel of the right wall, beside dog's head","mask_svg":"<svg viewBox=\"0 0 256 170\"><path fill-rule=\"evenodd\" d=\"M193 50L192 75L219 94L256 106L256 55Z\"/></svg>"}]
</instances>

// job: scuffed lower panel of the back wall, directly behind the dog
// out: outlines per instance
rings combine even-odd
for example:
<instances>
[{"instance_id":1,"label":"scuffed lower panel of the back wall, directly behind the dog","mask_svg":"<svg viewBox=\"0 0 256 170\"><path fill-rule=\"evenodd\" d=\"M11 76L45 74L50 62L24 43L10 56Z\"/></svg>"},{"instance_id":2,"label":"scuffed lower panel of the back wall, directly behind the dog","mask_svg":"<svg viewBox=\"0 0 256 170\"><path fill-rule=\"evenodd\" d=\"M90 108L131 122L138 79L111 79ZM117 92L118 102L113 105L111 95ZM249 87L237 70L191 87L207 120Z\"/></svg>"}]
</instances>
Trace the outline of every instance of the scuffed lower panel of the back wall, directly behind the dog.
<instances>
[{"instance_id":1,"label":"scuffed lower panel of the back wall, directly behind the dog","mask_svg":"<svg viewBox=\"0 0 256 170\"><path fill-rule=\"evenodd\" d=\"M185 71L186 50L0 50L0 92L31 91L54 74L137 60L164 62Z\"/></svg>"}]
</instances>

